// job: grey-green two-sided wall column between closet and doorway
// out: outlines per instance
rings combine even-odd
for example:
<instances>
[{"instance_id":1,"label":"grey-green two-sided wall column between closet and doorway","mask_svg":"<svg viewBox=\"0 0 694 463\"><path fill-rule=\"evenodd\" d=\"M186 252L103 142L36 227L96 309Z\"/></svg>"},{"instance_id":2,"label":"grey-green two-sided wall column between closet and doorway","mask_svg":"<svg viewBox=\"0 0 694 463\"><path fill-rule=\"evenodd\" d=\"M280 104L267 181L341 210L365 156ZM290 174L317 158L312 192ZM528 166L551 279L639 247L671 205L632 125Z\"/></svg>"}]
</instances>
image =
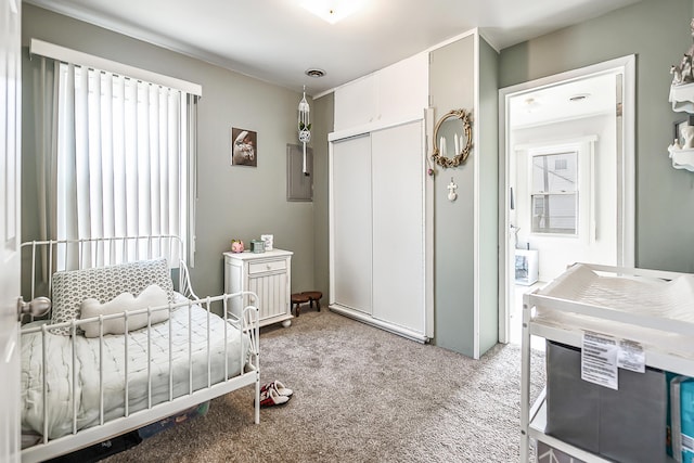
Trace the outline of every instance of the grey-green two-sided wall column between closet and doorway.
<instances>
[{"instance_id":1,"label":"grey-green two-sided wall column between closet and doorway","mask_svg":"<svg viewBox=\"0 0 694 463\"><path fill-rule=\"evenodd\" d=\"M473 146L463 166L451 169L437 166L434 182L434 343L471 357L475 353L476 334L480 355L499 338L499 55L483 38L479 38L478 53L478 76L475 76L475 37L472 35L432 51L429 64L429 94L435 118L455 108L475 111L472 124L477 145ZM479 85L478 107L474 101L475 80ZM479 169L477 179L476 167ZM454 202L447 197L451 178L458 184ZM479 198L477 222L475 195ZM478 268L474 265L476 250L479 253ZM475 272L478 272L478 287L474 284ZM478 326L474 324L475 292L479 307Z\"/></svg>"}]
</instances>

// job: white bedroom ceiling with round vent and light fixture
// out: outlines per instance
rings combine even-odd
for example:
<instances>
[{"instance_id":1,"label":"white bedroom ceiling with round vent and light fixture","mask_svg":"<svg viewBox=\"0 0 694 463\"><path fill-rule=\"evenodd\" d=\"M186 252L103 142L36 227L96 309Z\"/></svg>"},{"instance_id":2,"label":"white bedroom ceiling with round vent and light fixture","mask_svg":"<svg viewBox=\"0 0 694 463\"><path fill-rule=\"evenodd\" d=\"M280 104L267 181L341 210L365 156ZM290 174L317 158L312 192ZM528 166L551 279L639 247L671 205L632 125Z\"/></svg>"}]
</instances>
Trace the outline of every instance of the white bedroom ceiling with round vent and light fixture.
<instances>
[{"instance_id":1,"label":"white bedroom ceiling with round vent and light fixture","mask_svg":"<svg viewBox=\"0 0 694 463\"><path fill-rule=\"evenodd\" d=\"M367 0L334 25L303 0L25 1L317 95L475 27L502 50L641 0Z\"/></svg>"}]
</instances>

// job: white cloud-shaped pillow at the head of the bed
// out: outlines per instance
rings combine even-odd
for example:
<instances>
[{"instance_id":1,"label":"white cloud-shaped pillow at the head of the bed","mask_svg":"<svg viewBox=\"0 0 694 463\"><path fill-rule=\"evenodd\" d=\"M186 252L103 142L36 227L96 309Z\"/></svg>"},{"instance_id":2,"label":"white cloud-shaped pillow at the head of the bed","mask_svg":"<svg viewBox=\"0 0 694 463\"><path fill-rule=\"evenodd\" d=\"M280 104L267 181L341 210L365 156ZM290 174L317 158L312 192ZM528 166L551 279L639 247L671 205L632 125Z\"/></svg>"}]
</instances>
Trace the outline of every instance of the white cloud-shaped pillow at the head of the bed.
<instances>
[{"instance_id":1,"label":"white cloud-shaped pillow at the head of the bed","mask_svg":"<svg viewBox=\"0 0 694 463\"><path fill-rule=\"evenodd\" d=\"M147 307L160 307L169 304L168 295L160 286L153 284L144 288L138 297L130 293L123 293L112 300L100 304L97 299L85 299L81 304L80 319L89 319L99 316L110 316L123 313L126 310L146 309ZM169 319L168 310L156 310L152 312L152 324L160 323ZM140 313L128 317L128 331L139 330L147 325L147 314ZM85 323L85 337L99 336L99 322ZM104 334L125 334L125 318L104 320Z\"/></svg>"}]
</instances>

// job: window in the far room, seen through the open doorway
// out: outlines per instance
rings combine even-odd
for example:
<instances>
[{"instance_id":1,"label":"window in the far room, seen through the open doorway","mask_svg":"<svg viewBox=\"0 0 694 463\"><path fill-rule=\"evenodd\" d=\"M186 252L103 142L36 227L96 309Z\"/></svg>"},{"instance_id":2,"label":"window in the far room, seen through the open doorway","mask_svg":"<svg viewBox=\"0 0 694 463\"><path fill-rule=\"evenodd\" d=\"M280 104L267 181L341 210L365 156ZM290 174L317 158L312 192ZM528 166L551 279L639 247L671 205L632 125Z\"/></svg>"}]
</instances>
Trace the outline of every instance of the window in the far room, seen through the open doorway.
<instances>
[{"instance_id":1,"label":"window in the far room, seen through the open doorway","mask_svg":"<svg viewBox=\"0 0 694 463\"><path fill-rule=\"evenodd\" d=\"M531 156L531 230L577 234L578 152Z\"/></svg>"}]
</instances>

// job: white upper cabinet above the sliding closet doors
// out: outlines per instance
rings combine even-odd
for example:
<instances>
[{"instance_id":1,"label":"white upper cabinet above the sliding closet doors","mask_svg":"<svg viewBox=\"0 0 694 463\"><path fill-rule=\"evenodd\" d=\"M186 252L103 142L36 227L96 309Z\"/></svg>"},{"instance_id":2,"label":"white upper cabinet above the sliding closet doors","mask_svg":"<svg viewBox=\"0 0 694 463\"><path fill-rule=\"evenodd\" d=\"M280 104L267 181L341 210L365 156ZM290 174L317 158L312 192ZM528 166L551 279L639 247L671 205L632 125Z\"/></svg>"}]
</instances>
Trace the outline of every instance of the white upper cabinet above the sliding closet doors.
<instances>
[{"instance_id":1,"label":"white upper cabinet above the sliding closet doors","mask_svg":"<svg viewBox=\"0 0 694 463\"><path fill-rule=\"evenodd\" d=\"M335 131L422 118L428 106L428 53L335 90Z\"/></svg>"}]
</instances>

